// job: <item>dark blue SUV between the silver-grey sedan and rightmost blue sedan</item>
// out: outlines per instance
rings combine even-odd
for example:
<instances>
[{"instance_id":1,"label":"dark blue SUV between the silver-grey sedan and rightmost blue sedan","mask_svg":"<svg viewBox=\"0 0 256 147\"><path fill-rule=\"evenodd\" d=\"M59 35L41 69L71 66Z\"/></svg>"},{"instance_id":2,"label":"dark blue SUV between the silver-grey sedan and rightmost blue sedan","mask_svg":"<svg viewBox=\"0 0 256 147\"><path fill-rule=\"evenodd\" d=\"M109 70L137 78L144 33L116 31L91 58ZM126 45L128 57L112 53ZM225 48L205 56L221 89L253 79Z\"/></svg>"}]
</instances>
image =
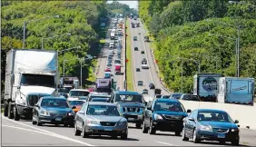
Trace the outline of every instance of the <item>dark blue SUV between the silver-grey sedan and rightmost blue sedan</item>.
<instances>
[{"instance_id":1,"label":"dark blue SUV between the silver-grey sedan and rightmost blue sedan","mask_svg":"<svg viewBox=\"0 0 256 147\"><path fill-rule=\"evenodd\" d=\"M187 113L191 113L191 110ZM162 131L181 135L183 118L188 116L187 113L178 100L154 99L143 112L143 133Z\"/></svg>"}]
</instances>

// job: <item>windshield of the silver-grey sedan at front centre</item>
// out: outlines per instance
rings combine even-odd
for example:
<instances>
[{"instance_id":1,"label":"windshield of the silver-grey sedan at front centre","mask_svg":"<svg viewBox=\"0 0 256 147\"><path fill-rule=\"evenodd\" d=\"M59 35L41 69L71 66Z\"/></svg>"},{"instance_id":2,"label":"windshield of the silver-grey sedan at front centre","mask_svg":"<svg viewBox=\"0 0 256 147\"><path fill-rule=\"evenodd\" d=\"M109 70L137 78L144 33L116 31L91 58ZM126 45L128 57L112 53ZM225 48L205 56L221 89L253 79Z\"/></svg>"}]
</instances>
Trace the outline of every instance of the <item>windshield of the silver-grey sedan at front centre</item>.
<instances>
[{"instance_id":1,"label":"windshield of the silver-grey sedan at front centre","mask_svg":"<svg viewBox=\"0 0 256 147\"><path fill-rule=\"evenodd\" d=\"M121 116L117 106L113 105L89 105L86 114L88 115L108 115Z\"/></svg>"}]
</instances>

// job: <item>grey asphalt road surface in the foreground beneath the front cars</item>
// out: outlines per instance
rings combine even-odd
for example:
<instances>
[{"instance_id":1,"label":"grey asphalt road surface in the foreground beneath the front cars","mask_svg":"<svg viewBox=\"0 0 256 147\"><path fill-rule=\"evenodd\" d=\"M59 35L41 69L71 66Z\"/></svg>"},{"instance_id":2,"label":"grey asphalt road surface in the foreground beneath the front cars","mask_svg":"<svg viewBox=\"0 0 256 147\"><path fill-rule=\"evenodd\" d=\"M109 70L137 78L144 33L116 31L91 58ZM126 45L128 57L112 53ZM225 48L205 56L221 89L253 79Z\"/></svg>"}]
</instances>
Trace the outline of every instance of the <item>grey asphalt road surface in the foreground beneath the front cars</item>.
<instances>
[{"instance_id":1,"label":"grey asphalt road surface in the foreground beneath the front cars","mask_svg":"<svg viewBox=\"0 0 256 147\"><path fill-rule=\"evenodd\" d=\"M133 124L129 126L126 141L119 138L113 140L108 136L83 138L74 136L74 128L50 124L36 126L30 121L15 122L2 116L2 146L224 146L218 142L182 142L182 137L174 136L172 132L156 132L151 135L135 129ZM255 146L255 138L255 131L241 130L242 146Z\"/></svg>"}]
</instances>

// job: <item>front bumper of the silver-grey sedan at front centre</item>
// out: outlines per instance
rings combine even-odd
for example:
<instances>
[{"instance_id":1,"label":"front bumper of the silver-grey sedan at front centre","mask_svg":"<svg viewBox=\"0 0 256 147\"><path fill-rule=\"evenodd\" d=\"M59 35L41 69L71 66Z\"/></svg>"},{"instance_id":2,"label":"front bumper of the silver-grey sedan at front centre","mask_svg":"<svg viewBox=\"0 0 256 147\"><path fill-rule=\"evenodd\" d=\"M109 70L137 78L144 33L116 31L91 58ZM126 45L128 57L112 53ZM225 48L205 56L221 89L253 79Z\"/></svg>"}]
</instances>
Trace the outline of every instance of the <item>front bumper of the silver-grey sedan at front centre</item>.
<instances>
[{"instance_id":1,"label":"front bumper of the silver-grey sedan at front centre","mask_svg":"<svg viewBox=\"0 0 256 147\"><path fill-rule=\"evenodd\" d=\"M88 134L96 134L96 135L121 135L123 133L128 133L128 126L102 126L96 124L87 124L85 126L85 132Z\"/></svg>"}]
</instances>

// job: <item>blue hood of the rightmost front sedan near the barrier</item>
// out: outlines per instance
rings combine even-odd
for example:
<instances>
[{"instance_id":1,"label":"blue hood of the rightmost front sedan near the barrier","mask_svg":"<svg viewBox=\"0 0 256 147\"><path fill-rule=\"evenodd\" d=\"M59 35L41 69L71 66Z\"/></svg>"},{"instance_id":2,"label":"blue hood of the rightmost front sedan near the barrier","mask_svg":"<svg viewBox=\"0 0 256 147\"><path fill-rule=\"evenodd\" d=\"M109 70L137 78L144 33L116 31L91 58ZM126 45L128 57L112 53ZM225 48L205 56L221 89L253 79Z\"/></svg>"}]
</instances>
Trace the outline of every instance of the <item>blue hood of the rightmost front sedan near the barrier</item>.
<instances>
[{"instance_id":1,"label":"blue hood of the rightmost front sedan near the barrier","mask_svg":"<svg viewBox=\"0 0 256 147\"><path fill-rule=\"evenodd\" d=\"M201 125L210 125L212 128L238 128L235 123L232 122L213 122L213 121L200 121Z\"/></svg>"}]
</instances>

